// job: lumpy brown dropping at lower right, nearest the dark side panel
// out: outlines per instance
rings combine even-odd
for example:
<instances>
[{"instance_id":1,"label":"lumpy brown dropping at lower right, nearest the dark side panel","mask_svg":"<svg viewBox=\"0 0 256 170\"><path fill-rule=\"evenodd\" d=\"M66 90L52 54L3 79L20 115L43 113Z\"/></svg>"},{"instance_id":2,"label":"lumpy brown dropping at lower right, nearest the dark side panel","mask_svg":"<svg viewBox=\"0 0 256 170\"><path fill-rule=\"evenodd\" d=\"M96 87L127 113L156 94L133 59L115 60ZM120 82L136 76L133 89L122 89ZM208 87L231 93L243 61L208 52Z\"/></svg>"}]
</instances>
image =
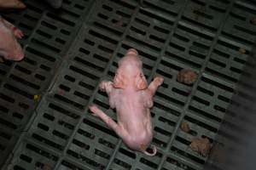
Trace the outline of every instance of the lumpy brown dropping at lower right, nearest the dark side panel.
<instances>
[{"instance_id":1,"label":"lumpy brown dropping at lower right, nearest the dark side panel","mask_svg":"<svg viewBox=\"0 0 256 170\"><path fill-rule=\"evenodd\" d=\"M211 150L211 143L207 138L195 138L192 139L189 147L191 150L198 152L202 156L207 156Z\"/></svg>"}]
</instances>

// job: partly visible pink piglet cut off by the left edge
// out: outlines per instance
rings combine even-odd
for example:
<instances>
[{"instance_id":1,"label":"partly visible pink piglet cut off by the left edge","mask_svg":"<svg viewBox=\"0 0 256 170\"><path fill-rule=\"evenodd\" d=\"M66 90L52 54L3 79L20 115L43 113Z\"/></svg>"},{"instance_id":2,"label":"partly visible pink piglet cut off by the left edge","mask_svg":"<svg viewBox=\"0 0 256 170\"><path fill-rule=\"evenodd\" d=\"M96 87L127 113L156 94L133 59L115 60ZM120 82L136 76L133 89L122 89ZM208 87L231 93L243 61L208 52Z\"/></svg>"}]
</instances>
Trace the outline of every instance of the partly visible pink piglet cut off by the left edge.
<instances>
[{"instance_id":1,"label":"partly visible pink piglet cut off by the left edge","mask_svg":"<svg viewBox=\"0 0 256 170\"><path fill-rule=\"evenodd\" d=\"M22 31L0 16L0 56L9 60L21 60L24 52L16 38L23 37Z\"/></svg>"}]
</instances>

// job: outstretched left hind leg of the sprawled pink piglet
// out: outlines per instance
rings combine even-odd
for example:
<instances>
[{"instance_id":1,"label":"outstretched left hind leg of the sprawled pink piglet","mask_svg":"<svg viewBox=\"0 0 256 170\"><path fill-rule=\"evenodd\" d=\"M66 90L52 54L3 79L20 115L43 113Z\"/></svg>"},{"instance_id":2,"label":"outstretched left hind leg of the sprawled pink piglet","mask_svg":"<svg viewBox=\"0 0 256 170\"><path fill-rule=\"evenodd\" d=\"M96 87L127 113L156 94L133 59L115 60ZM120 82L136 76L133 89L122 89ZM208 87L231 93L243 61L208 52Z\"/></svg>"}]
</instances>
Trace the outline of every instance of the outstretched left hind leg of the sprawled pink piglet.
<instances>
[{"instance_id":1,"label":"outstretched left hind leg of the sprawled pink piglet","mask_svg":"<svg viewBox=\"0 0 256 170\"><path fill-rule=\"evenodd\" d=\"M119 135L119 137L123 138L124 137L124 130L123 128L119 127L119 125L113 121L111 117L106 115L102 110L100 110L96 105L91 105L89 107L90 111L93 112L95 116L99 116L103 122L105 122L108 127L112 128L115 133Z\"/></svg>"}]
</instances>

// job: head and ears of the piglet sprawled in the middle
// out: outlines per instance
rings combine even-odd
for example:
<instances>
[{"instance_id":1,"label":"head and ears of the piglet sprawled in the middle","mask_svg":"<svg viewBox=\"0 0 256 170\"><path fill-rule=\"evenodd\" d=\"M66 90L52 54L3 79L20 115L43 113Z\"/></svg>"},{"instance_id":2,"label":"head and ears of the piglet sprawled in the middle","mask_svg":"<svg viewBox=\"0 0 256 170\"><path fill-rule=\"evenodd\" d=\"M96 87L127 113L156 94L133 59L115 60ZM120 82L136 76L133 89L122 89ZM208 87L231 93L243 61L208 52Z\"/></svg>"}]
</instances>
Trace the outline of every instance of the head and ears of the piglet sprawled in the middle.
<instances>
[{"instance_id":1,"label":"head and ears of the piglet sprawled in the middle","mask_svg":"<svg viewBox=\"0 0 256 170\"><path fill-rule=\"evenodd\" d=\"M137 50L131 48L125 57L119 60L119 68L113 79L114 88L148 88L148 82L143 75L143 62L139 59Z\"/></svg>"}]
</instances>

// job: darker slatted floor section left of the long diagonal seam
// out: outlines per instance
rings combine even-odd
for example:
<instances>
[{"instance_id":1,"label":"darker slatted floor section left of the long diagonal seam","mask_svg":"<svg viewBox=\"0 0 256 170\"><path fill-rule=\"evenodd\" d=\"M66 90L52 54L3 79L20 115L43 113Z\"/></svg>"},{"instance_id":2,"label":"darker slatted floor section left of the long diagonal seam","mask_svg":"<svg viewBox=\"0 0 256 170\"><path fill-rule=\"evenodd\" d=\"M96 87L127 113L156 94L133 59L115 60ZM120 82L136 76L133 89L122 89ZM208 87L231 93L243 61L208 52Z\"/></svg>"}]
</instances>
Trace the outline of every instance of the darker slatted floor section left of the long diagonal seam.
<instances>
[{"instance_id":1,"label":"darker slatted floor section left of the long diagonal seam","mask_svg":"<svg viewBox=\"0 0 256 170\"><path fill-rule=\"evenodd\" d=\"M14 147L32 112L38 105L34 95L47 93L50 82L61 64L63 54L73 42L90 2L65 1L58 16L45 11L43 4L26 1L25 11L4 15L25 33L21 41L26 48L22 62L0 65L0 132L9 133L3 140L0 165ZM5 142L9 140L9 142ZM2 141L2 140L1 140ZM6 145L8 144L8 145Z\"/></svg>"}]
</instances>

